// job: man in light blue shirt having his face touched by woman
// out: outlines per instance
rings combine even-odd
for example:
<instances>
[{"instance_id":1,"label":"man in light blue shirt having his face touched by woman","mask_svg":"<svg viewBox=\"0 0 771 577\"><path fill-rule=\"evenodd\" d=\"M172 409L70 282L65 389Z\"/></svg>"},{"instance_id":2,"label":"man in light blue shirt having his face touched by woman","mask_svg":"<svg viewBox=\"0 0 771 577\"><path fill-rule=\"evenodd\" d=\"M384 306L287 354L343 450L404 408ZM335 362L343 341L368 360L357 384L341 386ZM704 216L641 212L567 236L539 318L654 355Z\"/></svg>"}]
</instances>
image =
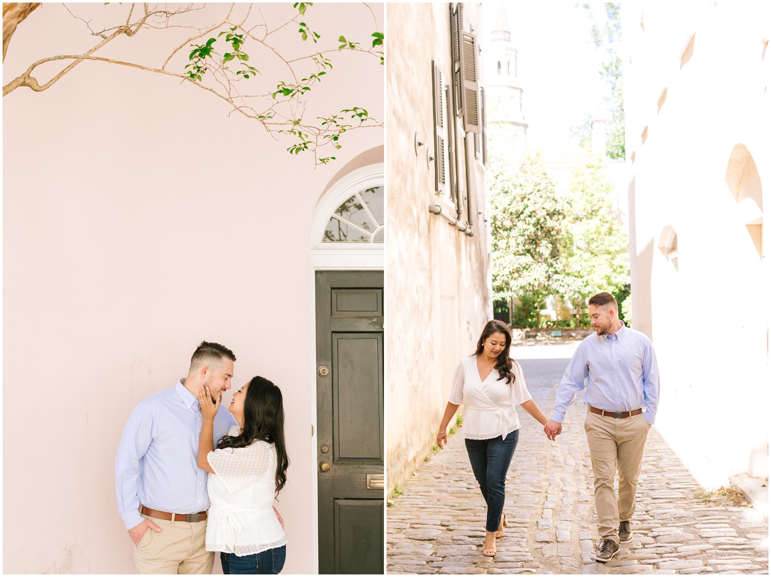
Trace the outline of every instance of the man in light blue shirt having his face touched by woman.
<instances>
[{"instance_id":1,"label":"man in light blue shirt having his face touched by woman","mask_svg":"<svg viewBox=\"0 0 771 577\"><path fill-rule=\"evenodd\" d=\"M140 402L123 430L115 459L118 512L136 545L138 573L210 573L207 552L208 473L197 465L203 423L197 392L209 387L212 401L231 387L233 351L206 341L190 359L187 377ZM214 443L236 424L221 406Z\"/></svg>"}]
</instances>

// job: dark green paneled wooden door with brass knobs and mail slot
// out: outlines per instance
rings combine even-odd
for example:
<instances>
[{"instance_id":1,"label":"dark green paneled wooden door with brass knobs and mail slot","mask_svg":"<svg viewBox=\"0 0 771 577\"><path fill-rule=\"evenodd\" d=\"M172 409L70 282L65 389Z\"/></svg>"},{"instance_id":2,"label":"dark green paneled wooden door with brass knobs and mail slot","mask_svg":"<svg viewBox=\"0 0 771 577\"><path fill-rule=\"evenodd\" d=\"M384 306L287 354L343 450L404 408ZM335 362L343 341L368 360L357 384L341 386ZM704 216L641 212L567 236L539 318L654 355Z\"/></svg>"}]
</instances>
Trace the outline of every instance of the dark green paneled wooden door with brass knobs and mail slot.
<instances>
[{"instance_id":1,"label":"dark green paneled wooden door with brass knobs and mail slot","mask_svg":"<svg viewBox=\"0 0 771 577\"><path fill-rule=\"evenodd\" d=\"M382 574L383 273L316 273L318 571Z\"/></svg>"}]
</instances>

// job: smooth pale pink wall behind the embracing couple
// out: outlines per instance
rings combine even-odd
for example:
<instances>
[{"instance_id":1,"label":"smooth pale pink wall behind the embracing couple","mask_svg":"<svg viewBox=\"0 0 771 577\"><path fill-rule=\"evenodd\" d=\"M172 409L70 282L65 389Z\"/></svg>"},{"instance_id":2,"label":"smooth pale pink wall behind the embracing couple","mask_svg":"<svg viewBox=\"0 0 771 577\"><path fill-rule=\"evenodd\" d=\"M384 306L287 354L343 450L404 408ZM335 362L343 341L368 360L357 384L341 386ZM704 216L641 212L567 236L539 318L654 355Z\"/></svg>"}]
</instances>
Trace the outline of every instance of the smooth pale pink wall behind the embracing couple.
<instances>
[{"instance_id":1,"label":"smooth pale pink wall behind the embracing couple","mask_svg":"<svg viewBox=\"0 0 771 577\"><path fill-rule=\"evenodd\" d=\"M85 17L121 9L68 6ZM370 7L382 29L382 5ZM214 22L225 8L198 14ZM272 18L291 5L262 9ZM382 120L382 66L336 52L340 34L369 42L372 14L314 5L307 18L335 50L313 108L366 106ZM68 42L84 29L62 5L39 8L12 39L4 82L85 49L87 35ZM109 54L159 64L160 35L141 32ZM261 66L271 77L271 63ZM183 377L203 339L237 355L234 387L261 374L284 391L284 572L316 570L309 232L328 182L384 133L348 133L336 163L314 169L228 112L176 79L96 62L47 92L4 99L4 572L134 571L116 448L136 403Z\"/></svg>"}]
</instances>

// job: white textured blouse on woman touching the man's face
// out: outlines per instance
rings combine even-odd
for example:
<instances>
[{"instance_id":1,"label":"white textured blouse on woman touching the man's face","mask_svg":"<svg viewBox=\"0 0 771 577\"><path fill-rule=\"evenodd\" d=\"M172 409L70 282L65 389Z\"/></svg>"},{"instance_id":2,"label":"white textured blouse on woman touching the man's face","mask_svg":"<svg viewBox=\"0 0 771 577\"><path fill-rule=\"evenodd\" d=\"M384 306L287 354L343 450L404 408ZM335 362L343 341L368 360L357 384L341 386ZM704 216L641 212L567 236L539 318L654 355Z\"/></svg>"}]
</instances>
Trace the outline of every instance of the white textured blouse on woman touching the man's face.
<instances>
[{"instance_id":1,"label":"white textured blouse on woman touching the man's face","mask_svg":"<svg viewBox=\"0 0 771 577\"><path fill-rule=\"evenodd\" d=\"M227 434L239 434L237 426ZM273 511L278 458L274 444L254 441L244 448L210 451L207 460L211 502L206 550L251 555L286 545L284 529Z\"/></svg>"}]
</instances>

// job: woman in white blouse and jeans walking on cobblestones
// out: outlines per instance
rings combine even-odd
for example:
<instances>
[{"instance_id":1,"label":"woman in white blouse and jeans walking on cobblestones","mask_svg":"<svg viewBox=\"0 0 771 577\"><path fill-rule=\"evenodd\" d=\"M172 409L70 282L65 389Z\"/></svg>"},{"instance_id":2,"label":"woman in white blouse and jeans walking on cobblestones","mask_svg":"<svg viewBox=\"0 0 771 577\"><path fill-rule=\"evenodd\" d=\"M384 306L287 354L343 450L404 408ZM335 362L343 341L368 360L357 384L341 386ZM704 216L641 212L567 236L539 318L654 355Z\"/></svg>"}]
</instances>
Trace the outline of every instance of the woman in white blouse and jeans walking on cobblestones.
<instances>
[{"instance_id":1,"label":"woman in white blouse and jeans walking on cobblestones","mask_svg":"<svg viewBox=\"0 0 771 577\"><path fill-rule=\"evenodd\" d=\"M466 451L487 503L487 524L482 554L496 554L495 538L508 526L503 504L506 474L519 441L519 404L540 424L548 419L527 392L522 368L509 357L511 330L500 320L490 320L476 344L476 352L463 358L453 377L453 390L439 424L436 444L447 442L449 420L463 403L463 437Z\"/></svg>"}]
</instances>

